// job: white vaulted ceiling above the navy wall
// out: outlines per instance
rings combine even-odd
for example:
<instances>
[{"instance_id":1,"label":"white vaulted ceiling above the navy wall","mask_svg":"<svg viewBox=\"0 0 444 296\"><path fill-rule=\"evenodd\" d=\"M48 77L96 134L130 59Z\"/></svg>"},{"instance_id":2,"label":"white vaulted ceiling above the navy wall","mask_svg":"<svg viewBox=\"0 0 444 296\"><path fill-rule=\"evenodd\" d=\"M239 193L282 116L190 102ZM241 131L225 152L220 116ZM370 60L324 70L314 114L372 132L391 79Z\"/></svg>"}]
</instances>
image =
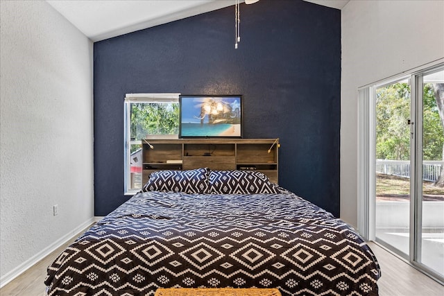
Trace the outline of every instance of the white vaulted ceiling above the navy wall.
<instances>
[{"instance_id":1,"label":"white vaulted ceiling above the navy wall","mask_svg":"<svg viewBox=\"0 0 444 296\"><path fill-rule=\"evenodd\" d=\"M235 3L235 0L46 1L94 42L233 6ZM341 9L349 0L305 1Z\"/></svg>"}]
</instances>

